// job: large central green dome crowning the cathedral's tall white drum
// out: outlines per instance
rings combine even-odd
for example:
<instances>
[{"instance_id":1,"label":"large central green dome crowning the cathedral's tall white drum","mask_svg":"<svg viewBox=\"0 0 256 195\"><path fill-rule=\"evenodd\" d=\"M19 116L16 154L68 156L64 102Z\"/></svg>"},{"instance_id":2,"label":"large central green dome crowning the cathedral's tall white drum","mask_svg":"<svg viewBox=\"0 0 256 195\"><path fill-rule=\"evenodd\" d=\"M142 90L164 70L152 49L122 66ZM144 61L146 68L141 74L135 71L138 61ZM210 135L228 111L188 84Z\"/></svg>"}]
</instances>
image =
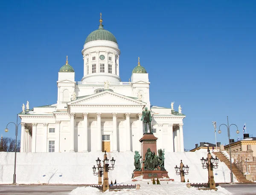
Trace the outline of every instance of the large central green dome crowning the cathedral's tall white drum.
<instances>
[{"instance_id":1,"label":"large central green dome crowning the cathedral's tall white drum","mask_svg":"<svg viewBox=\"0 0 256 195\"><path fill-rule=\"evenodd\" d=\"M109 31L103 29L103 25L99 25L99 29L91 32L85 40L85 43L88 43L93 40L109 40L117 44L116 37ZM85 44L84 43L84 44Z\"/></svg>"}]
</instances>

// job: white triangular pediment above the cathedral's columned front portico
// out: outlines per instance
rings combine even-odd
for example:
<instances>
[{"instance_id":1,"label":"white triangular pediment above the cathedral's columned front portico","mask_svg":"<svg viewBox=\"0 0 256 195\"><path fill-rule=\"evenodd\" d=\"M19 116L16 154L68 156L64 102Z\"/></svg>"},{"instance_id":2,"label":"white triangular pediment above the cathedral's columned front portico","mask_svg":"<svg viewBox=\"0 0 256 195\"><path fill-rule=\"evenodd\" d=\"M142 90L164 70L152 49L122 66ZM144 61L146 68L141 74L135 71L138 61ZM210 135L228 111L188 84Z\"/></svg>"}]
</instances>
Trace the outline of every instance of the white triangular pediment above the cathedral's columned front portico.
<instances>
[{"instance_id":1,"label":"white triangular pediment above the cathedral's columned front portico","mask_svg":"<svg viewBox=\"0 0 256 195\"><path fill-rule=\"evenodd\" d=\"M111 91L104 91L83 97L78 100L69 102L68 105L137 105L145 106L146 103L135 100L131 97L117 94Z\"/></svg>"}]
</instances>

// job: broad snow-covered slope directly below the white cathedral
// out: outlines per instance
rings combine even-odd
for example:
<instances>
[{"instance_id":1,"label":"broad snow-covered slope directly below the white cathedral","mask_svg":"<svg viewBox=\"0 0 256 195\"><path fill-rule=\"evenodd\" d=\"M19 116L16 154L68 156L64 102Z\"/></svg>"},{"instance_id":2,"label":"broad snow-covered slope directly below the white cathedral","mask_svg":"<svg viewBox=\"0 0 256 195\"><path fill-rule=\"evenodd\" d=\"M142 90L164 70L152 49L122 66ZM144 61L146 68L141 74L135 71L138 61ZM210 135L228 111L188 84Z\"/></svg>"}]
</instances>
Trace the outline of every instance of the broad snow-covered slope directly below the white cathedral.
<instances>
[{"instance_id":1,"label":"broad snow-covered slope directly below the white cathedral","mask_svg":"<svg viewBox=\"0 0 256 195\"><path fill-rule=\"evenodd\" d=\"M16 182L17 184L97 184L98 178L93 175L92 167L96 159L103 159L103 152L67 152L67 153L17 153ZM109 171L109 181L131 183L134 170L134 152L111 152L108 158L116 160L115 168ZM214 155L213 155L214 156ZM180 160L189 166L190 183L207 183L208 172L203 169L200 159L207 157L207 152L166 152L165 168L169 177L180 181L174 167ZM14 172L14 152L0 152L0 184L12 184ZM230 170L220 162L214 169L216 183L230 182ZM237 182L234 177L234 182ZM173 183L172 183L173 184ZM169 186L169 185L168 185Z\"/></svg>"}]
</instances>

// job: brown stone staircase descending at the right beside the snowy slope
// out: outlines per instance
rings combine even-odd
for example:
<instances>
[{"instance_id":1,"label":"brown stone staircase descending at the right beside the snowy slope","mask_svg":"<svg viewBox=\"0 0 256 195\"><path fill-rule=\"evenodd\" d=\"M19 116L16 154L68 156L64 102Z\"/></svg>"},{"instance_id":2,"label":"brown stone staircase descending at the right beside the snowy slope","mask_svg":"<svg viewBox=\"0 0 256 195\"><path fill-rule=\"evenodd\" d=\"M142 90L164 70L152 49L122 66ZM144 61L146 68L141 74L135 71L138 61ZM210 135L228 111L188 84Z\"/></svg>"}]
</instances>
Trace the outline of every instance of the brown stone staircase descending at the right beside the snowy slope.
<instances>
[{"instance_id":1,"label":"brown stone staircase descending at the right beside the snowy slope","mask_svg":"<svg viewBox=\"0 0 256 195\"><path fill-rule=\"evenodd\" d=\"M213 152L215 156L218 157L218 159L221 162L224 162L227 167L230 169L230 161L221 153L221 152ZM234 175L236 175L236 179L241 183L251 183L251 181L248 181L244 175L240 172L239 169L236 168L236 166L232 163L232 172Z\"/></svg>"}]
</instances>

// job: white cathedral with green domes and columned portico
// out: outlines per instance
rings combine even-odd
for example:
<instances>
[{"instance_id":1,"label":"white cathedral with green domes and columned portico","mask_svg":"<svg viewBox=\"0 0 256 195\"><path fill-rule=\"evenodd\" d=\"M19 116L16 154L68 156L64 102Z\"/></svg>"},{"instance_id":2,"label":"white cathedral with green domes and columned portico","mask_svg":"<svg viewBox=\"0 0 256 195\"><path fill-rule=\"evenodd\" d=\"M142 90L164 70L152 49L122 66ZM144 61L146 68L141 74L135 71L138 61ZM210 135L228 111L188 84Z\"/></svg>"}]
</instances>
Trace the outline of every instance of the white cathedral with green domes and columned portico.
<instances>
[{"instance_id":1,"label":"white cathedral with green domes and columned portico","mask_svg":"<svg viewBox=\"0 0 256 195\"><path fill-rule=\"evenodd\" d=\"M151 106L145 68L132 70L131 81L119 77L120 50L114 35L99 29L85 40L84 76L75 81L72 66L58 72L57 103L20 112L20 152L125 152L140 151L142 111L151 111L157 149L183 152L183 118L172 108ZM144 129L144 130L143 130Z\"/></svg>"}]
</instances>

